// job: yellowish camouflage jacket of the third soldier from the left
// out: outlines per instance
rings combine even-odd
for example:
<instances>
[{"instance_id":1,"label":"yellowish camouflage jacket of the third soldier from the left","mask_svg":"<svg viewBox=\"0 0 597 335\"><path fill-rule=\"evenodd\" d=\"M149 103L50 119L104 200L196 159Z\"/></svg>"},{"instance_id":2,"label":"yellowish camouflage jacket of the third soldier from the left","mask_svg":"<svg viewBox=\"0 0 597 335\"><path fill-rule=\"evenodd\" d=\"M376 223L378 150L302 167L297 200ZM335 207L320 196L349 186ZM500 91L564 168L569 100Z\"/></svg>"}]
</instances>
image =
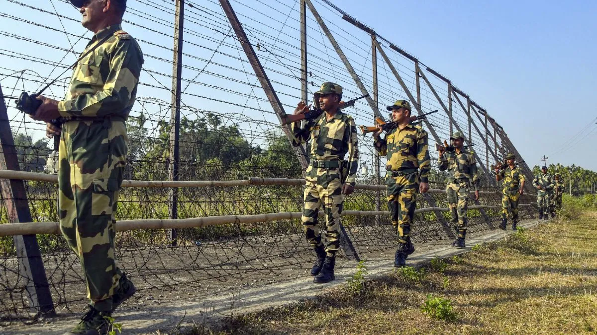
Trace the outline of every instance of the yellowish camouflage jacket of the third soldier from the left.
<instances>
[{"instance_id":1,"label":"yellowish camouflage jacket of the third soldier from the left","mask_svg":"<svg viewBox=\"0 0 597 335\"><path fill-rule=\"evenodd\" d=\"M381 156L387 157L386 170L419 169L421 182L429 182L431 159L427 132L412 123L404 129L396 127L374 143Z\"/></svg>"}]
</instances>

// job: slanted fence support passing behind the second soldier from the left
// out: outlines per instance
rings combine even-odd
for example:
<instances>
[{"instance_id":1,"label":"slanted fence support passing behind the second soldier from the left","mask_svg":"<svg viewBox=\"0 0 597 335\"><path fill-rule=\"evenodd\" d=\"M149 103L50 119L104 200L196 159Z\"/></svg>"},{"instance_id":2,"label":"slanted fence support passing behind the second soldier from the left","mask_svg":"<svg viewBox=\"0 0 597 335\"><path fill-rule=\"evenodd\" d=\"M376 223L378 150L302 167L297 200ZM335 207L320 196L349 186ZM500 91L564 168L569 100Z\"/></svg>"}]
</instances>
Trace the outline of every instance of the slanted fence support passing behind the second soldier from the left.
<instances>
[{"instance_id":1,"label":"slanted fence support passing behind the second soldier from the left","mask_svg":"<svg viewBox=\"0 0 597 335\"><path fill-rule=\"evenodd\" d=\"M309 0L306 0L306 4L308 4L310 8L313 7L313 5L310 4ZM242 27L241 22L238 20L238 17L236 16L236 13L232 9L232 5L230 5L230 2L228 0L220 0L220 5L223 8L224 13L226 13L228 21L230 21L230 25L232 26L232 29L234 30L236 37L238 38L238 41L241 42L242 49L245 51L245 54L247 55L249 63L251 63L251 66L253 67L253 71L255 72L257 79L259 79L261 88L263 88L263 91L269 99L269 102L272 105L272 108L275 111L276 116L278 116L278 120L280 121L280 123L282 123L282 116L286 114L284 111L284 107L282 106L282 103L278 98L278 94L276 94L276 91L273 89L272 83L269 81L269 78L267 77L267 74L265 73L263 66L261 66L261 62L259 61L259 58L257 57L255 50L253 49L253 45L251 45L251 42L247 38L245 29ZM312 11L313 10L314 9L312 9ZM288 137L288 141L292 142L293 135L290 132L290 127L282 126L282 129ZM307 162L307 153L305 149L299 146L294 147L294 151L298 156L298 160L301 163L301 166L303 166L303 170L306 170L309 163ZM341 246L344 250L344 254L346 255L346 257L352 260L360 260L359 255L356 252L355 247L353 246L352 241L348 237L346 229L343 225L340 225L340 232L342 235Z\"/></svg>"}]
</instances>

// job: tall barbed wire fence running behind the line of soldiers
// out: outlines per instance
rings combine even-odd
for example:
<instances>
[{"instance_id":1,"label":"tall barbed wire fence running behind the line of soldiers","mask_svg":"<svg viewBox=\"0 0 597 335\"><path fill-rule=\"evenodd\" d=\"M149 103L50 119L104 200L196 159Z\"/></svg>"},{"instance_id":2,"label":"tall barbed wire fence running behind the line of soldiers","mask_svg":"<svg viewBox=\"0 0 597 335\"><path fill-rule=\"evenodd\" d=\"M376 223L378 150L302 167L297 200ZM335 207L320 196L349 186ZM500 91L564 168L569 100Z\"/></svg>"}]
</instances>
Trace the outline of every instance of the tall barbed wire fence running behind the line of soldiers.
<instances>
[{"instance_id":1,"label":"tall barbed wire fence running behind the line of soldiers","mask_svg":"<svg viewBox=\"0 0 597 335\"><path fill-rule=\"evenodd\" d=\"M67 1L0 1L5 22L0 25L0 95L8 107L7 119L1 121L10 123L16 157L12 163L32 172L10 178L23 180L19 182L30 222L56 222L56 184L48 179L56 171L45 125L19 113L12 101L21 91L36 92L68 69L91 35ZM424 123L435 158L430 186L436 191L419 195L416 243L446 244L454 237L445 193L440 191L445 189L445 173L437 169L433 142L456 130L475 145L484 186L481 200L469 210L469 234L491 229L500 220L501 193L488 169L504 153L515 151L504 129L450 80L331 2L138 0L130 2L123 26L139 41L145 63L127 121L125 179L133 184L121 192L118 221L221 218L217 224L190 228L134 226L119 231L117 257L141 293L207 294L304 275L313 259L300 224L305 157L291 149L278 115L280 110L291 113L325 81L343 86L344 100L371 94L370 100L347 110L359 125L373 125L374 116L383 114L378 106L384 110L399 98L412 101L417 113L439 110ZM263 84L263 75L256 75L256 60L271 87ZM61 77L44 95L61 100L69 80L70 76ZM344 206L348 253L341 253L343 258L369 258L396 247L387 213L380 212L386 207L385 158L376 156L372 144L370 136L359 135L361 186ZM17 205L14 184L3 180L0 215L6 224L16 222ZM222 182L147 187L134 181ZM523 198L521 217L531 215L528 204L533 201ZM264 213L279 215L259 216ZM80 311L85 289L78 259L59 234L28 236L24 238L29 246L33 241L38 245L47 283L24 268L33 257L20 251L24 242L0 237L0 321ZM38 286L45 287L47 297L36 296L41 292Z\"/></svg>"}]
</instances>

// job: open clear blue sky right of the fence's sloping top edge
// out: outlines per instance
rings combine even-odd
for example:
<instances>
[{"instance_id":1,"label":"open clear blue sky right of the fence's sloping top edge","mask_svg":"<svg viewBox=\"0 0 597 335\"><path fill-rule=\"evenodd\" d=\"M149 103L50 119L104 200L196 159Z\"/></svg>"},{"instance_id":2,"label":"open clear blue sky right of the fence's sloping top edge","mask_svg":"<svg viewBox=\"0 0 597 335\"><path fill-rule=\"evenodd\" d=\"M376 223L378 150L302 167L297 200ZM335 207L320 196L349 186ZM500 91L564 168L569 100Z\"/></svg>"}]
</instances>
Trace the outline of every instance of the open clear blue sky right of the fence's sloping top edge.
<instances>
[{"instance_id":1,"label":"open clear blue sky right of the fence's sloping top edge","mask_svg":"<svg viewBox=\"0 0 597 335\"><path fill-rule=\"evenodd\" d=\"M336 4L487 108L532 167L597 170L597 1Z\"/></svg>"}]
</instances>

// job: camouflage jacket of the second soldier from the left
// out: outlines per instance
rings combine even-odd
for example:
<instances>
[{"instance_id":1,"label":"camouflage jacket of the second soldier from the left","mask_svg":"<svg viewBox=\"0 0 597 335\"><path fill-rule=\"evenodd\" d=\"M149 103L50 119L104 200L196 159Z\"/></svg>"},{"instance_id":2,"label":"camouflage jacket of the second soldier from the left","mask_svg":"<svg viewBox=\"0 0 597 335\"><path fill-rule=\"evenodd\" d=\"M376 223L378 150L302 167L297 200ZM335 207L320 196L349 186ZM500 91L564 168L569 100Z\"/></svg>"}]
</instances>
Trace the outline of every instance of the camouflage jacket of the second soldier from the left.
<instances>
[{"instance_id":1,"label":"camouflage jacket of the second soldier from the left","mask_svg":"<svg viewBox=\"0 0 597 335\"><path fill-rule=\"evenodd\" d=\"M355 185L359 148L355 120L352 116L338 110L334 117L327 121L323 113L317 119L306 122L304 127L297 122L291 123L290 129L293 131L295 147L311 139L312 160L346 160L346 184Z\"/></svg>"}]
</instances>

